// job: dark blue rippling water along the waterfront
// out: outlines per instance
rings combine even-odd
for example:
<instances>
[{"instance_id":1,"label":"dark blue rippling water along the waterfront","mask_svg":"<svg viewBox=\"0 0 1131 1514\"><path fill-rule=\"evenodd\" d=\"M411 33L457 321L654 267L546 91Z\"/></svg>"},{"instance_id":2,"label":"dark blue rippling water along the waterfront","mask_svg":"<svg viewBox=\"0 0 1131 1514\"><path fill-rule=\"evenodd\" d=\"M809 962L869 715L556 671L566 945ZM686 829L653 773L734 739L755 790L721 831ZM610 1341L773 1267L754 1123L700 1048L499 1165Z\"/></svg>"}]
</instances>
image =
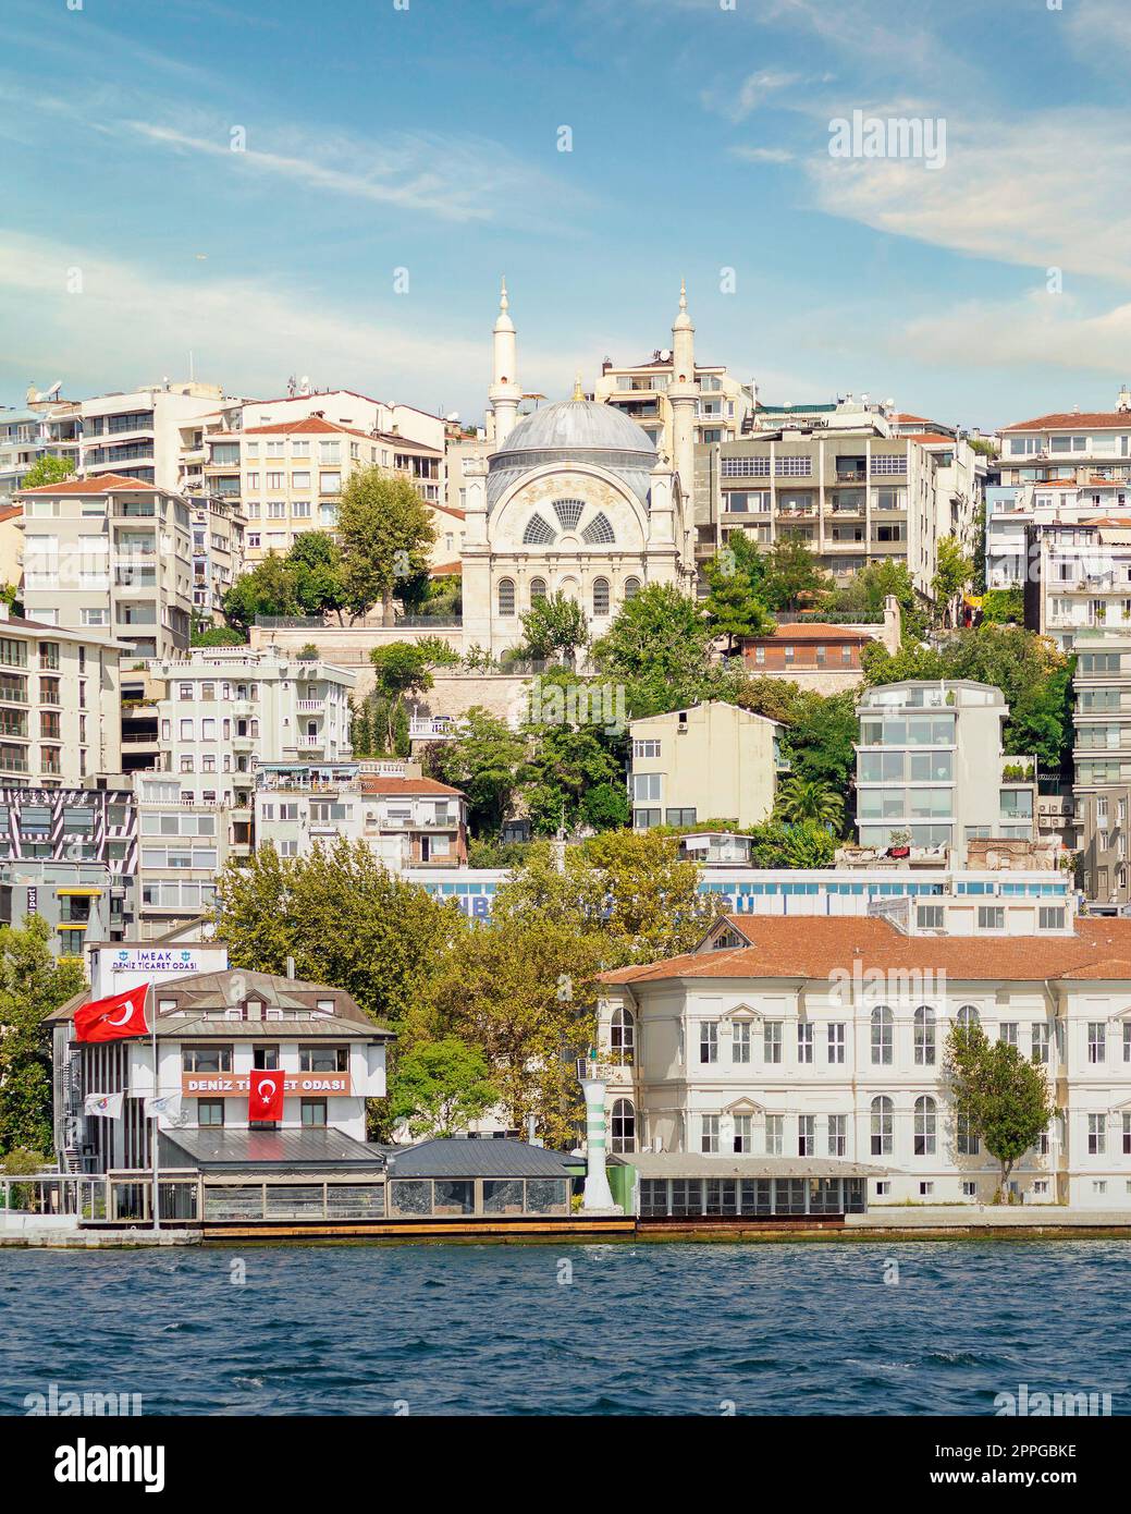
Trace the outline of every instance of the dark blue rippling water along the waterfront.
<instances>
[{"instance_id":1,"label":"dark blue rippling water along the waterfront","mask_svg":"<svg viewBox=\"0 0 1131 1514\"><path fill-rule=\"evenodd\" d=\"M0 1413L1126 1414L1129 1279L1123 1241L8 1251Z\"/></svg>"}]
</instances>

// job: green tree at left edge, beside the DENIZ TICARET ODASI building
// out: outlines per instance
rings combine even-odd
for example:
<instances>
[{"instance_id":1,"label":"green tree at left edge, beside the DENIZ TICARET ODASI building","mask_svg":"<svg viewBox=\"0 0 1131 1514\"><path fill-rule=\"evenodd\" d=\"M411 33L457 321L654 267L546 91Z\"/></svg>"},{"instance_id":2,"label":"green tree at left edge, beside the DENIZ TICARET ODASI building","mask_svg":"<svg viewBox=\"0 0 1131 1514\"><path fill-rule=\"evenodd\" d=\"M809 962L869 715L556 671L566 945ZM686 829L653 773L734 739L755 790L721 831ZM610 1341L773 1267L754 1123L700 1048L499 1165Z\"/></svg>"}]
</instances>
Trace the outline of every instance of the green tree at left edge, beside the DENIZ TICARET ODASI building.
<instances>
[{"instance_id":1,"label":"green tree at left edge, beside the DENIZ TICARET ODASI building","mask_svg":"<svg viewBox=\"0 0 1131 1514\"><path fill-rule=\"evenodd\" d=\"M56 961L50 927L27 914L0 927L0 1154L24 1148L50 1155L51 1040L44 1016L85 986L82 963Z\"/></svg>"}]
</instances>

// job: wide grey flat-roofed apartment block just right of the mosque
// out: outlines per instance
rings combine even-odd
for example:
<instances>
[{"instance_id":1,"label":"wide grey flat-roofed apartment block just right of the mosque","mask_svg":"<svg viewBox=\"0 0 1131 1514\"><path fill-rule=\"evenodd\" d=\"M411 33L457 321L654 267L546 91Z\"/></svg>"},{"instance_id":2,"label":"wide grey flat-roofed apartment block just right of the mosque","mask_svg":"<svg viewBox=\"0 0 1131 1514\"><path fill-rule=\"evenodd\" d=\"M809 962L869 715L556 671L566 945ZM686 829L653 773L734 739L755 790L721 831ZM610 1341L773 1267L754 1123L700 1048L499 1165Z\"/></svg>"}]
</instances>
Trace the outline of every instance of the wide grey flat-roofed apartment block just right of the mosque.
<instances>
[{"instance_id":1,"label":"wide grey flat-roofed apartment block just right of the mosque","mask_svg":"<svg viewBox=\"0 0 1131 1514\"><path fill-rule=\"evenodd\" d=\"M972 540L981 498L966 442L892 436L871 412L860 425L754 431L695 450L696 557L713 557L731 531L760 547L802 540L836 583L872 562L907 565L933 593L939 540Z\"/></svg>"}]
</instances>

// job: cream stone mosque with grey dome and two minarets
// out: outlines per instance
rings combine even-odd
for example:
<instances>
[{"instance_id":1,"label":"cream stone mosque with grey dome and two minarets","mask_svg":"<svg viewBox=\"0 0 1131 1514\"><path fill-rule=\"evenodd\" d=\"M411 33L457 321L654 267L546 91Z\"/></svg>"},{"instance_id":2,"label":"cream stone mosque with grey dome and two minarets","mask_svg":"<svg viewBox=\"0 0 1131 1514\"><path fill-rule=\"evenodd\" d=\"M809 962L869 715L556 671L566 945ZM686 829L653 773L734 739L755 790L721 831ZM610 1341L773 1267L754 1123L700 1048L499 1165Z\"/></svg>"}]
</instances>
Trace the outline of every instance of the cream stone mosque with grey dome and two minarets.
<instances>
[{"instance_id":1,"label":"cream stone mosque with grey dome and two minarets","mask_svg":"<svg viewBox=\"0 0 1131 1514\"><path fill-rule=\"evenodd\" d=\"M506 283L489 389L495 445L463 463L463 648L498 656L522 640L521 615L559 590L601 636L650 583L695 587L695 327L687 295L672 326L672 457L612 404L571 400L518 418L518 339Z\"/></svg>"}]
</instances>

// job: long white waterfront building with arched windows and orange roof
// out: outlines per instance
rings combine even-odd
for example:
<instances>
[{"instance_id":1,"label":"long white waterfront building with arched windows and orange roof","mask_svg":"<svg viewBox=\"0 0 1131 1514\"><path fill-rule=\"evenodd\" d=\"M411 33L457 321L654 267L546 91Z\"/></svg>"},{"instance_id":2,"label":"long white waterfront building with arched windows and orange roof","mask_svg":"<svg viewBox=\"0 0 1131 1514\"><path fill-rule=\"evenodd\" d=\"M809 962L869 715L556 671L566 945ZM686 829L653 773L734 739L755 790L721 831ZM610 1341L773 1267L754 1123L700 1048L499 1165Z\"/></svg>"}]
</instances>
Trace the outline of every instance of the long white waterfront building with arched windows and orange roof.
<instances>
[{"instance_id":1,"label":"long white waterfront building with arched windows and orange roof","mask_svg":"<svg viewBox=\"0 0 1131 1514\"><path fill-rule=\"evenodd\" d=\"M951 1026L977 1023L1055 1096L1016 1196L1129 1208L1129 989L1131 921L940 937L914 921L724 917L684 957L603 977L610 1146L651 1154L642 1214L765 1213L775 1173L778 1213L836 1208L822 1184L855 1175L871 1205L992 1202L999 1164L943 1073Z\"/></svg>"}]
</instances>

